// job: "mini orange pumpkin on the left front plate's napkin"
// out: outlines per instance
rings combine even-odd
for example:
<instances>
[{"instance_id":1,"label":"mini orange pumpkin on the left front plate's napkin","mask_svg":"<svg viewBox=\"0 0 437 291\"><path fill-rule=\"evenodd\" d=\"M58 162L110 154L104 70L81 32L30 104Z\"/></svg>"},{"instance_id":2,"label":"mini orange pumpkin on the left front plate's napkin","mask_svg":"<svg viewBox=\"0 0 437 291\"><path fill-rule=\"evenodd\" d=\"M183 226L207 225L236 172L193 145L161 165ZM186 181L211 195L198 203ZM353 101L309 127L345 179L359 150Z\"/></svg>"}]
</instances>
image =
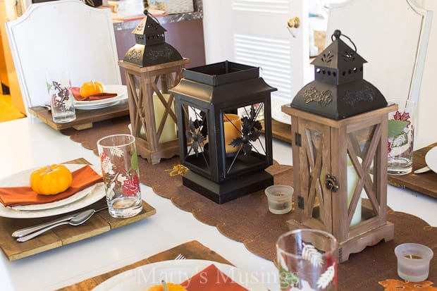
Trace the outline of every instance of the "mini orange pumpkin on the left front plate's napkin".
<instances>
[{"instance_id":1,"label":"mini orange pumpkin on the left front plate's napkin","mask_svg":"<svg viewBox=\"0 0 437 291\"><path fill-rule=\"evenodd\" d=\"M30 174L30 187L38 194L54 195L64 192L73 182L73 175L66 166L49 165Z\"/></svg>"}]
</instances>

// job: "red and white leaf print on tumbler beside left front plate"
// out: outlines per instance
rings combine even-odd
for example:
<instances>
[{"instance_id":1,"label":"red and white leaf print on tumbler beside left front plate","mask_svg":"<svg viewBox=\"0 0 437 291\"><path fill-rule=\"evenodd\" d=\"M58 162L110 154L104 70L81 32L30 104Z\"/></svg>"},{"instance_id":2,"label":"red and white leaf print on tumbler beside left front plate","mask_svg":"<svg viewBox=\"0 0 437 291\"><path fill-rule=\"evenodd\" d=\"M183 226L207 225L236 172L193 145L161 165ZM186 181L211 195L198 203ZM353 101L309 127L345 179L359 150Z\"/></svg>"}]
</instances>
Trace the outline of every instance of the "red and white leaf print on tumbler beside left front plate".
<instances>
[{"instance_id":1,"label":"red and white leaf print on tumbler beside left front plate","mask_svg":"<svg viewBox=\"0 0 437 291\"><path fill-rule=\"evenodd\" d=\"M116 192L135 196L140 191L137 152L133 149L128 170L125 170L124 156L125 153L120 147L111 147L109 153L103 151L100 154L101 171L109 199L113 198Z\"/></svg>"}]
</instances>

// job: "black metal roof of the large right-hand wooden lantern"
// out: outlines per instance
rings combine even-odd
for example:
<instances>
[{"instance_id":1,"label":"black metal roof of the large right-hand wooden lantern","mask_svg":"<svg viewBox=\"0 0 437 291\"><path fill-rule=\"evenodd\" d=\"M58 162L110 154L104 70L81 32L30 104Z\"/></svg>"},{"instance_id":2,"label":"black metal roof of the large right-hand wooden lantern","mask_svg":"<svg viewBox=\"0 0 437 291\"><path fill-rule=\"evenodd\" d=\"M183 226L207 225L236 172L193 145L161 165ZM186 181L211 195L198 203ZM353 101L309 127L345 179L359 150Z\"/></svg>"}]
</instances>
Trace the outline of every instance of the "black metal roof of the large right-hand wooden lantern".
<instances>
[{"instance_id":1,"label":"black metal roof of the large right-hand wooden lantern","mask_svg":"<svg viewBox=\"0 0 437 291\"><path fill-rule=\"evenodd\" d=\"M312 61L315 80L296 94L293 108L342 119L387 106L383 94L363 79L363 63L367 61L357 54L353 42L355 49L340 36L336 30L331 37L335 40Z\"/></svg>"}]
</instances>

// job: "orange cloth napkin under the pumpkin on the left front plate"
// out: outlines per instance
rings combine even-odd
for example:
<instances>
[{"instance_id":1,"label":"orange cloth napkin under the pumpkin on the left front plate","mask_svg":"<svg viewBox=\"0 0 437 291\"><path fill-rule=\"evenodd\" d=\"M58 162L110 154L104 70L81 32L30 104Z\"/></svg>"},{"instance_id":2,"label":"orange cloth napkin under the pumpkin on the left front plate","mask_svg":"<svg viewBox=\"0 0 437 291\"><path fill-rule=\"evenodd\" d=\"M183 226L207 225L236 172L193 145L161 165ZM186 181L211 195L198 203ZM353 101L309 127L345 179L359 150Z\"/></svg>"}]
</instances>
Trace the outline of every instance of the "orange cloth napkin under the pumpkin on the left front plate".
<instances>
[{"instance_id":1,"label":"orange cloth napkin under the pumpkin on the left front plate","mask_svg":"<svg viewBox=\"0 0 437 291\"><path fill-rule=\"evenodd\" d=\"M59 201L84 190L97 182L101 182L101 175L96 173L89 165L72 173L73 182L64 192L56 195L40 195L34 192L30 186L23 187L0 187L0 202L4 206L44 204Z\"/></svg>"}]
</instances>

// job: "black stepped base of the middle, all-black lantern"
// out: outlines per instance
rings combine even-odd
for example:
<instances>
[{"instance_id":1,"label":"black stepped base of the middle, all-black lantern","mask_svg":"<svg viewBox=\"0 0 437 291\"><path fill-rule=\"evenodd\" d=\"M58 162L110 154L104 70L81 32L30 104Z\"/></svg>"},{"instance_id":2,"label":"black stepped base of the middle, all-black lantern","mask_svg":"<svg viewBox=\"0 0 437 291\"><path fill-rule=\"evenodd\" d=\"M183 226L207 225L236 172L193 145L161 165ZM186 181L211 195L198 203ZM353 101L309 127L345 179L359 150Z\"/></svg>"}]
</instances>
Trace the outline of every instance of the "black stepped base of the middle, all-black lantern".
<instances>
[{"instance_id":1,"label":"black stepped base of the middle, all-black lantern","mask_svg":"<svg viewBox=\"0 0 437 291\"><path fill-rule=\"evenodd\" d=\"M183 175L183 185L212 201L223 204L273 185L273 176L266 171L241 175L233 180L218 184L189 171Z\"/></svg>"}]
</instances>

